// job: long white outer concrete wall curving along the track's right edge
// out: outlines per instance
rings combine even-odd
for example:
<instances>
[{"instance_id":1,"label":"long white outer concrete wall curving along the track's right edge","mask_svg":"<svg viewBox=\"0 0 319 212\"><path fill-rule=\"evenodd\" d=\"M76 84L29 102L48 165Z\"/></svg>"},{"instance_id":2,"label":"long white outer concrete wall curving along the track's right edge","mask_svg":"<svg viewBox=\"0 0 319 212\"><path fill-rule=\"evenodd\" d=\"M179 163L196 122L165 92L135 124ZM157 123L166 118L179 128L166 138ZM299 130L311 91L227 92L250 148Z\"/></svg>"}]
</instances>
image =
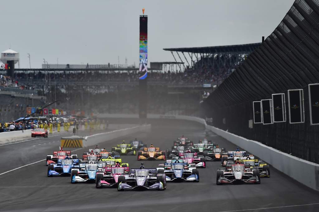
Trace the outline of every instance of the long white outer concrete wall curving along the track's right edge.
<instances>
[{"instance_id":1,"label":"long white outer concrete wall curving along the track's right edge","mask_svg":"<svg viewBox=\"0 0 319 212\"><path fill-rule=\"evenodd\" d=\"M123 114L100 114L101 118L138 118L138 115L123 115ZM274 168L287 174L294 180L319 191L319 165L309 162L307 160L299 159L295 156L280 152L277 149L263 145L254 140L240 137L233 133L221 130L219 128L206 124L206 121L198 117L190 116L170 116L170 115L157 115L148 114L148 118L164 118L164 119L182 119L195 121L205 125L207 130L225 138L231 143L245 149L251 154L256 155L260 159L269 163Z\"/></svg>"}]
</instances>

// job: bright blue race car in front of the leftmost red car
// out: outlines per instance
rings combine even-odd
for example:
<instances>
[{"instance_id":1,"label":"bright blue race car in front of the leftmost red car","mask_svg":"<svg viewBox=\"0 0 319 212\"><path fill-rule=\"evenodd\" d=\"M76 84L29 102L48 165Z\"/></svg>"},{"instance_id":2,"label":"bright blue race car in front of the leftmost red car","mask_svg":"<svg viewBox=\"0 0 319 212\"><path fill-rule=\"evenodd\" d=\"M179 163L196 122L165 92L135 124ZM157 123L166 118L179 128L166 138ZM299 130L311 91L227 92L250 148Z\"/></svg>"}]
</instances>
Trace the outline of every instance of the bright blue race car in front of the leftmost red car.
<instances>
[{"instance_id":1,"label":"bright blue race car in front of the leftmost red car","mask_svg":"<svg viewBox=\"0 0 319 212\"><path fill-rule=\"evenodd\" d=\"M60 163L48 165L48 177L70 176L72 168L79 168L79 159L62 159Z\"/></svg>"}]
</instances>

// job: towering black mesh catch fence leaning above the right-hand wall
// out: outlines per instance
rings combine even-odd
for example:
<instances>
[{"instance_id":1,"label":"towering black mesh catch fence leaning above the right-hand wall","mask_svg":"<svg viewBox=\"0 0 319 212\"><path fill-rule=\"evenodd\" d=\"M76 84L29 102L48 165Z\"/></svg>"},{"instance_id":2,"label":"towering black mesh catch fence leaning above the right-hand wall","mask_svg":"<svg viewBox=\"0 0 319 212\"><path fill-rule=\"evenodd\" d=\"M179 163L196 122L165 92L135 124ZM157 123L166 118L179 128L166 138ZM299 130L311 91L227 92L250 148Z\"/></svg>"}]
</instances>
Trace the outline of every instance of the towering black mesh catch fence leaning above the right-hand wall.
<instances>
[{"instance_id":1,"label":"towering black mesh catch fence leaning above the right-hand wall","mask_svg":"<svg viewBox=\"0 0 319 212\"><path fill-rule=\"evenodd\" d=\"M203 104L213 125L260 141L296 157L319 163L319 129L310 125L308 84L319 82L318 2L295 1L262 45ZM303 89L305 123L254 124L253 101ZM287 97L286 97L287 100ZM287 110L288 111L288 110Z\"/></svg>"}]
</instances>

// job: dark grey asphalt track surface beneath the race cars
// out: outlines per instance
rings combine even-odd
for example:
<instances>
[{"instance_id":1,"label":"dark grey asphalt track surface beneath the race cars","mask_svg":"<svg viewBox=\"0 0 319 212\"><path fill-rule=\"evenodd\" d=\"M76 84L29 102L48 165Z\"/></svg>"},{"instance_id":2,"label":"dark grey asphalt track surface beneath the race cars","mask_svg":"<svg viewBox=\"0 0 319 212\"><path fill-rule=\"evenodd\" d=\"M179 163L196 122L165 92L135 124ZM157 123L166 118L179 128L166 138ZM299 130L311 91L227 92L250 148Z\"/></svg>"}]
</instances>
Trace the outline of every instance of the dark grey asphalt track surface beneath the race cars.
<instances>
[{"instance_id":1,"label":"dark grey asphalt track surface beneath the race cars","mask_svg":"<svg viewBox=\"0 0 319 212\"><path fill-rule=\"evenodd\" d=\"M136 133L103 142L99 146L110 149L123 139L138 138L148 145L153 143L167 149L174 139L184 134L194 141L206 136L227 150L236 148L229 141L206 132L204 126L198 123L177 120L150 122L151 132ZM16 148L30 151L25 145ZM32 159L27 159L28 162L45 158L48 151L44 151L42 145L33 148L37 153ZM82 155L85 151L80 149L75 152ZM13 155L4 157L1 153L1 166L8 167L5 165L8 163L12 168L28 163L22 157L17 160ZM122 156L122 161L128 162L131 168L140 166L137 156ZM144 163L146 168L152 168L163 162ZM217 186L216 170L220 167L220 162L207 162L207 168L199 170L198 183L167 183L165 191L118 192L116 188L97 189L95 184L71 184L70 177L48 178L47 166L41 161L0 175L0 211L319 211L319 192L273 167L270 167L271 177L262 178L260 185ZM1 172L6 169L1 167Z\"/></svg>"}]
</instances>

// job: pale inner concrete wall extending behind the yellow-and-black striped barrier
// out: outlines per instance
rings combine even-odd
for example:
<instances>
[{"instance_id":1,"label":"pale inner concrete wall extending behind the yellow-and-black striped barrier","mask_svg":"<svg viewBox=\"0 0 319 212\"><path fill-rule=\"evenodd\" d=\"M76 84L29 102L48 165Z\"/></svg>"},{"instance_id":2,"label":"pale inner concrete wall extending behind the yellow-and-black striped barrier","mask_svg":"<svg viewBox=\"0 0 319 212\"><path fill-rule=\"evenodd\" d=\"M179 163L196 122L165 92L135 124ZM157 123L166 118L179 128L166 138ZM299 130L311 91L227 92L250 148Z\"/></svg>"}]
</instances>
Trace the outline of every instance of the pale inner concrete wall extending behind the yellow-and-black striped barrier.
<instances>
[{"instance_id":1,"label":"pale inner concrete wall extending behind the yellow-and-black striped barrier","mask_svg":"<svg viewBox=\"0 0 319 212\"><path fill-rule=\"evenodd\" d=\"M150 129L151 129L151 124L147 124L147 125L140 125L136 127L122 129L122 130L115 130L111 132L104 132L104 133L99 133L92 136L87 136L85 137L84 146L87 147L91 145L96 145L98 143L119 138L122 136L126 136L135 132L141 132L141 131L146 132L146 131L149 131Z\"/></svg>"}]
</instances>

